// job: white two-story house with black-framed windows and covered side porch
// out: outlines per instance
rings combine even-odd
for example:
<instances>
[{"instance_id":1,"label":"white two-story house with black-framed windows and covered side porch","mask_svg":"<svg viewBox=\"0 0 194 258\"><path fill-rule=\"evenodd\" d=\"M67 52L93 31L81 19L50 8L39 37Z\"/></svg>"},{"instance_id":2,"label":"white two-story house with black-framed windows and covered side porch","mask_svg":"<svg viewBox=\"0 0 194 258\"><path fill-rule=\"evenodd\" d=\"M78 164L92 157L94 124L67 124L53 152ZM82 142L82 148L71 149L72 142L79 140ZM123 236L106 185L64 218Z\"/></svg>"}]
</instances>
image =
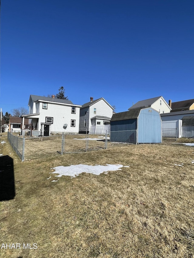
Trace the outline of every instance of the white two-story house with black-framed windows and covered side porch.
<instances>
[{"instance_id":1,"label":"white two-story house with black-framed windows and covered side porch","mask_svg":"<svg viewBox=\"0 0 194 258\"><path fill-rule=\"evenodd\" d=\"M29 119L32 135L50 136L62 132L79 132L80 105L74 105L70 100L56 99L54 95L52 98L30 95L28 106L29 114L21 117L22 124L24 118Z\"/></svg>"}]
</instances>

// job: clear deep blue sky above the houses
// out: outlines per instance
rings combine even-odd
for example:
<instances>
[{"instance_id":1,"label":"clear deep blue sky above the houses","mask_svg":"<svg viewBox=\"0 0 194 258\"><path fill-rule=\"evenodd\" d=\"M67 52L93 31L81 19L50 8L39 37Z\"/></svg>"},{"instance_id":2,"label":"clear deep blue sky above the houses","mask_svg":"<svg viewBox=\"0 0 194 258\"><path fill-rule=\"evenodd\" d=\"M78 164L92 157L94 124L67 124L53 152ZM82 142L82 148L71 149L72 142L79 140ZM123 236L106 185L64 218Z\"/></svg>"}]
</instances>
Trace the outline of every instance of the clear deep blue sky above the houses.
<instances>
[{"instance_id":1,"label":"clear deep blue sky above the houses","mask_svg":"<svg viewBox=\"0 0 194 258\"><path fill-rule=\"evenodd\" d=\"M193 99L194 1L1 0L3 113L30 94L74 104L105 98L116 112L163 96Z\"/></svg>"}]
</instances>

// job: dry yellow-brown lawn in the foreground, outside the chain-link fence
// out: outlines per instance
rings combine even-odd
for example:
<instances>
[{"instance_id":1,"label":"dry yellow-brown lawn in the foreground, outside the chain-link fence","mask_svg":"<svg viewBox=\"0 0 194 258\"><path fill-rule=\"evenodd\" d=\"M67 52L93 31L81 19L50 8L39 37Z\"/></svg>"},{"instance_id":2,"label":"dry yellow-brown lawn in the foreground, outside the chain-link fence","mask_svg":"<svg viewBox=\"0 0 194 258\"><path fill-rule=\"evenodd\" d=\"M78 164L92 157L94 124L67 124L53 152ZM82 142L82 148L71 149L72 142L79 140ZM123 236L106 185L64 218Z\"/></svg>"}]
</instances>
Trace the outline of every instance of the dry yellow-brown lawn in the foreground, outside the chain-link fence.
<instances>
[{"instance_id":1,"label":"dry yellow-brown lawn in the foreground, outside the chain-link fence","mask_svg":"<svg viewBox=\"0 0 194 258\"><path fill-rule=\"evenodd\" d=\"M0 144L0 153L13 159L15 178L15 197L0 202L0 248L20 244L3 246L0 257L194 257L194 147L174 143L25 162L8 141ZM50 174L56 166L78 164L128 167L75 178Z\"/></svg>"}]
</instances>

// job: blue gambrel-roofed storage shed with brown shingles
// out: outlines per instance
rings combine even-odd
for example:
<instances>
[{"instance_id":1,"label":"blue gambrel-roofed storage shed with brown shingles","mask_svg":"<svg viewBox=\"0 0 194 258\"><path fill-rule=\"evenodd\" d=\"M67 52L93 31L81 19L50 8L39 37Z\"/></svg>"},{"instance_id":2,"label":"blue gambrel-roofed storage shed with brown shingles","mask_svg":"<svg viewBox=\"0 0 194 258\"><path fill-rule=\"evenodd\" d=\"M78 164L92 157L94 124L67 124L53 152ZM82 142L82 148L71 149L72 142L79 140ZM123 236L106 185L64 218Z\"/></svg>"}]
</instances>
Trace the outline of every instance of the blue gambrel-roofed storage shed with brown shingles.
<instances>
[{"instance_id":1,"label":"blue gambrel-roofed storage shed with brown shingles","mask_svg":"<svg viewBox=\"0 0 194 258\"><path fill-rule=\"evenodd\" d=\"M151 107L136 108L113 114L110 120L110 131L111 142L162 142L160 114ZM118 131L123 132L118 133Z\"/></svg>"}]
</instances>

